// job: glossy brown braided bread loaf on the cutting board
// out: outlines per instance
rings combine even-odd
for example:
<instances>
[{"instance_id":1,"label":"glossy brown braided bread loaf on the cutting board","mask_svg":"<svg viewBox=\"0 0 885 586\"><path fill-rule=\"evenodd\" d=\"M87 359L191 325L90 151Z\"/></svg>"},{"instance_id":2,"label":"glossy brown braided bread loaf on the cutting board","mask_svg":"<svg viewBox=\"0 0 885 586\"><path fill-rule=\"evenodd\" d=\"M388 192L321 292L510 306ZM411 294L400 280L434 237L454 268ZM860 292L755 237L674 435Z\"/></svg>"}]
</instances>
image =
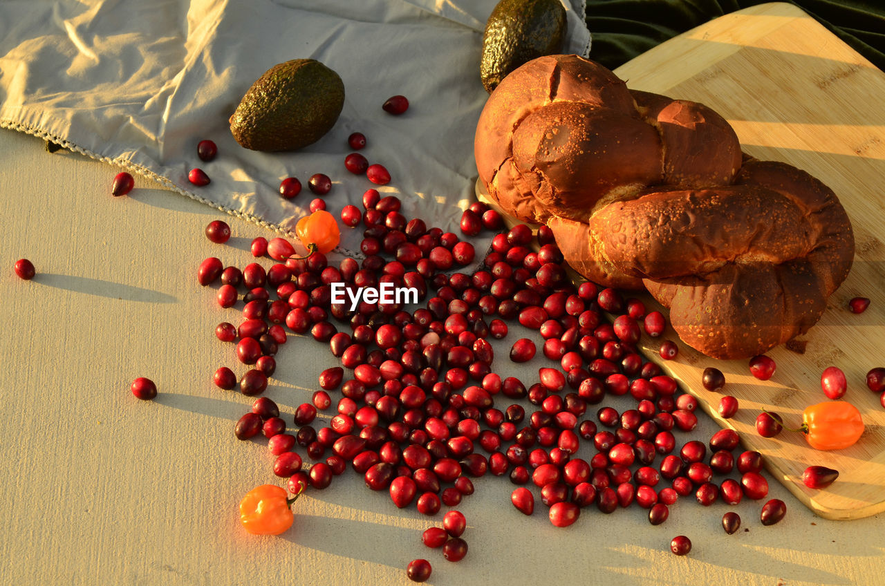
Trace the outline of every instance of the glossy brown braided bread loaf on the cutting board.
<instances>
[{"instance_id":1,"label":"glossy brown braided bread loaf on the cutting board","mask_svg":"<svg viewBox=\"0 0 885 586\"><path fill-rule=\"evenodd\" d=\"M584 58L537 58L508 75L474 149L505 212L546 222L590 281L648 289L682 341L714 358L811 328L854 258L826 185L743 156L703 104L629 90Z\"/></svg>"}]
</instances>

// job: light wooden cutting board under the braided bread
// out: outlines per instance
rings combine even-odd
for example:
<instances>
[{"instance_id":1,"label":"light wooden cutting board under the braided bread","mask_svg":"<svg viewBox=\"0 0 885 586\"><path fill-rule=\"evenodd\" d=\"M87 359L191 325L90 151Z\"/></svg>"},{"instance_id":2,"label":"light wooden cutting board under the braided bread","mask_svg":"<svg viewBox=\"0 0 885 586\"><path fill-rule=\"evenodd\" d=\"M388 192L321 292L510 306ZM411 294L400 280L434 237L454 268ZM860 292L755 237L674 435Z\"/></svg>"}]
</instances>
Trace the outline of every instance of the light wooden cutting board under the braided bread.
<instances>
[{"instance_id":1,"label":"light wooden cutting board under the braided bread","mask_svg":"<svg viewBox=\"0 0 885 586\"><path fill-rule=\"evenodd\" d=\"M885 73L791 4L763 4L697 27L618 68L632 89L702 102L735 127L756 158L781 160L824 181L839 196L855 231L857 255L850 276L830 298L827 312L799 340L804 353L781 346L772 380L750 375L747 360L705 357L669 330L643 336L643 351L698 397L722 427L766 457L771 476L812 511L828 519L858 519L885 511L885 408L866 387L866 373L885 366ZM851 297L869 297L862 314L848 310ZM651 309L659 305L644 296ZM679 356L662 360L664 339ZM723 394L738 398L730 420L716 412L720 393L701 385L706 366L726 376ZM761 410L781 413L797 428L807 405L828 400L820 373L838 366L848 378L845 400L863 413L866 432L842 451L815 451L800 433L763 438L755 431ZM839 470L827 490L802 483L806 466Z\"/></svg>"}]
</instances>

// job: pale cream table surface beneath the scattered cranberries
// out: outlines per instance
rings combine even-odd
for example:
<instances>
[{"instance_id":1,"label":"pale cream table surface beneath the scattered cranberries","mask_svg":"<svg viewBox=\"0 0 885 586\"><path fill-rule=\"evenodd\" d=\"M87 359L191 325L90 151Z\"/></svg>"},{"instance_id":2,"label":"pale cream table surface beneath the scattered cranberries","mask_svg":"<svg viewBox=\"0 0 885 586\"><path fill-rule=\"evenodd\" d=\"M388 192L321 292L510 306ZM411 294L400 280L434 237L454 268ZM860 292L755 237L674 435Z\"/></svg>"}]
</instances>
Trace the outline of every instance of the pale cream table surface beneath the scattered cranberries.
<instances>
[{"instance_id":1,"label":"pale cream table surface beneath the scattered cranberries","mask_svg":"<svg viewBox=\"0 0 885 586\"><path fill-rule=\"evenodd\" d=\"M786 518L765 528L761 503L744 501L734 507L743 527L727 536L729 507L689 499L658 527L634 505L611 515L591 508L571 528L553 528L543 505L523 516L509 503L509 480L488 475L458 506L470 551L453 564L419 540L441 515L398 510L348 470L298 501L283 536L245 534L240 497L276 479L264 443L232 433L250 398L212 385L218 366L236 369L233 346L213 335L236 314L197 285L196 267L209 256L245 266L252 238L272 234L139 178L128 197L111 197L115 173L0 131L0 583L396 584L409 583L404 567L415 558L431 562L429 583L440 585L881 583L881 515L820 519L776 482L770 497L787 503ZM226 245L204 236L216 219L232 227ZM12 272L22 257L36 266L33 281ZM494 345L506 356L506 343ZM297 336L277 358L267 395L291 421L335 359ZM539 365L499 360L497 369L536 376ZM137 376L157 382L157 399L132 396ZM692 437L716 429L701 413ZM695 544L687 558L668 551L680 534Z\"/></svg>"}]
</instances>

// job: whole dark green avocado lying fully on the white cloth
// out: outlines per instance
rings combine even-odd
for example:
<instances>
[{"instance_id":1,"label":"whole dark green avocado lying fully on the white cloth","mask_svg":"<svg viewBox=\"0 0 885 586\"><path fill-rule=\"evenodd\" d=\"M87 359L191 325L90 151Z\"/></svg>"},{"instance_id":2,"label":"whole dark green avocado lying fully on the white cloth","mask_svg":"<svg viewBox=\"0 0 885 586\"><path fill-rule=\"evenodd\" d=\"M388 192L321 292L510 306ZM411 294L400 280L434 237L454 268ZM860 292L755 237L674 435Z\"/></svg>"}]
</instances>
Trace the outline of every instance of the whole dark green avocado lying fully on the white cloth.
<instances>
[{"instance_id":1,"label":"whole dark green avocado lying fully on the white cloth","mask_svg":"<svg viewBox=\"0 0 885 586\"><path fill-rule=\"evenodd\" d=\"M326 135L343 107L338 73L314 59L293 59L252 84L230 117L230 132L247 149L296 150Z\"/></svg>"}]
</instances>

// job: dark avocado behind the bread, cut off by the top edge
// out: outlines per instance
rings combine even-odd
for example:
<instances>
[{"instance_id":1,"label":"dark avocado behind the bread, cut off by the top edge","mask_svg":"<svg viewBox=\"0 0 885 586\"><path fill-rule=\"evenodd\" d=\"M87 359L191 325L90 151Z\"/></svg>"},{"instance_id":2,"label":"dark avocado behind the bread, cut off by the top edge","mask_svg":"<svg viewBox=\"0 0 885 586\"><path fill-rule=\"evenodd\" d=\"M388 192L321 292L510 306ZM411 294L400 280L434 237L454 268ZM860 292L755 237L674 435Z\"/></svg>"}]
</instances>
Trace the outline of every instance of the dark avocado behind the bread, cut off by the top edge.
<instances>
[{"instance_id":1,"label":"dark avocado behind the bread, cut off by the top edge","mask_svg":"<svg viewBox=\"0 0 885 586\"><path fill-rule=\"evenodd\" d=\"M482 34L482 85L489 92L507 73L562 50L566 9L559 0L501 0Z\"/></svg>"}]
</instances>

